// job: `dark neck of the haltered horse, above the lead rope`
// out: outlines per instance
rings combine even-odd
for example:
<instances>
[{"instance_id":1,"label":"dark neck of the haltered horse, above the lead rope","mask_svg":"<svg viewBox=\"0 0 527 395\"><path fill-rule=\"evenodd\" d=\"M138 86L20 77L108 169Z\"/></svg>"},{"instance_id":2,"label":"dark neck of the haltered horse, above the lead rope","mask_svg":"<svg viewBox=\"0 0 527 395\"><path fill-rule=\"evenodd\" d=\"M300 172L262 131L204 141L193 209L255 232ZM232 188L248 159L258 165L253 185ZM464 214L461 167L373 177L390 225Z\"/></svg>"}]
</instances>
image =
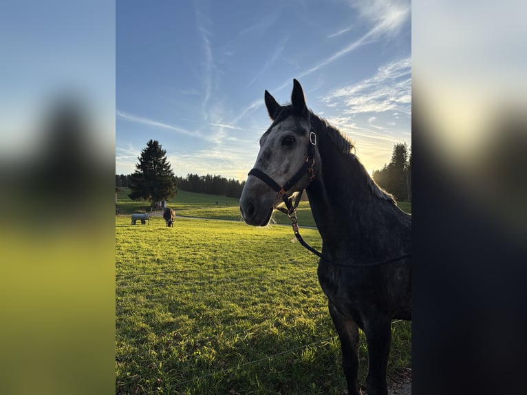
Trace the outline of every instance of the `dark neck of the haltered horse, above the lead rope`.
<instances>
[{"instance_id":1,"label":"dark neck of the haltered horse, above the lead rope","mask_svg":"<svg viewBox=\"0 0 527 395\"><path fill-rule=\"evenodd\" d=\"M306 191L324 252L332 259L372 261L404 250L405 246L386 245L399 232L391 226L400 222L394 202L379 196L355 156L338 151L327 136L319 141L320 171Z\"/></svg>"}]
</instances>

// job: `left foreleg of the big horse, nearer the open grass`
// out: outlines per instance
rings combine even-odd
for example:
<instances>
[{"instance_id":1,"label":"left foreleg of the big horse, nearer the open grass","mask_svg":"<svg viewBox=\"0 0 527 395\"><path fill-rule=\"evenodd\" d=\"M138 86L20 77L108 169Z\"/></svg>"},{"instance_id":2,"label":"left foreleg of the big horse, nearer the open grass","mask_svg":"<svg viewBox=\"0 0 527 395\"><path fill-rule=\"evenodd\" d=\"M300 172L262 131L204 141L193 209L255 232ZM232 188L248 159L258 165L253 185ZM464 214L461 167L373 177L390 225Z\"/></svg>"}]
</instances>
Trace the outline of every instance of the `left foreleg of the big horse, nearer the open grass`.
<instances>
[{"instance_id":1,"label":"left foreleg of the big horse, nearer the open grass","mask_svg":"<svg viewBox=\"0 0 527 395\"><path fill-rule=\"evenodd\" d=\"M330 301L330 315L341 340L342 368L347 381L349 395L361 395L358 387L358 327L355 321L344 317Z\"/></svg>"}]
</instances>

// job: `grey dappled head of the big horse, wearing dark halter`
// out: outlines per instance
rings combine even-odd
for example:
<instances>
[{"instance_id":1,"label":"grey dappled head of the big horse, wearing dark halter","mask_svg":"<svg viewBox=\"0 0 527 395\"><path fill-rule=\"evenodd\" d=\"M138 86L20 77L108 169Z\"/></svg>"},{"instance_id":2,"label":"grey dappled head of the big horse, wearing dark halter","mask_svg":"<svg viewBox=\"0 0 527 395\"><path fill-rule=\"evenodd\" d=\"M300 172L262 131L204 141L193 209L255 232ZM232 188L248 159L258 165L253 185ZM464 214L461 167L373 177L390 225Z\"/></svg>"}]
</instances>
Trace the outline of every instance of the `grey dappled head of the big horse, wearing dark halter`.
<instances>
[{"instance_id":1,"label":"grey dappled head of the big horse, wearing dark halter","mask_svg":"<svg viewBox=\"0 0 527 395\"><path fill-rule=\"evenodd\" d=\"M311 112L300 83L293 80L290 105L279 105L267 91L265 102L272 124L260 138L255 166L239 200L242 217L253 226L268 224L284 193L290 195L310 184L318 159Z\"/></svg>"}]
</instances>

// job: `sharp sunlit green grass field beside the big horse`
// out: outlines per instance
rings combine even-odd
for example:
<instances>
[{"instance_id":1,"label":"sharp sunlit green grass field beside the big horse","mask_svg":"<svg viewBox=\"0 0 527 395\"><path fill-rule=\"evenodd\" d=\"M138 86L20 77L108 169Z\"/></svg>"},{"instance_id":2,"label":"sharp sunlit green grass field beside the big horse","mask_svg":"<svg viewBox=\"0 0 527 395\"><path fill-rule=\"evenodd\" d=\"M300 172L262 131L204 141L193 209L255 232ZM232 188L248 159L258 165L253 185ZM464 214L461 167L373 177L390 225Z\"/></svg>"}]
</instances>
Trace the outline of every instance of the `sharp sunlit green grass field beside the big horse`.
<instances>
[{"instance_id":1,"label":"sharp sunlit green grass field beside the big horse","mask_svg":"<svg viewBox=\"0 0 527 395\"><path fill-rule=\"evenodd\" d=\"M239 220L236 200L222 197L223 207L218 199L180 191L169 206ZM321 248L316 230L302 235ZM291 237L286 226L188 217L173 228L162 217L133 226L130 215L118 215L116 393L341 394L340 343L317 258ZM392 335L394 373L411 365L411 324L394 323Z\"/></svg>"}]
</instances>

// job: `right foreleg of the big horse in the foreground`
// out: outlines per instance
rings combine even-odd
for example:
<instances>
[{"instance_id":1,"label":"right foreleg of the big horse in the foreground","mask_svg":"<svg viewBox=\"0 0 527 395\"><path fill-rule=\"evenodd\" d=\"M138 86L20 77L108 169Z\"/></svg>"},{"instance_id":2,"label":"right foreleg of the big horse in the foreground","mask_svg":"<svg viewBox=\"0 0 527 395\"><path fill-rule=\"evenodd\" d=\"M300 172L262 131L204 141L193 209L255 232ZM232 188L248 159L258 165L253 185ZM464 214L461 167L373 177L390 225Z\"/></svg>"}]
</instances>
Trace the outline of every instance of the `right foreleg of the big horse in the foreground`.
<instances>
[{"instance_id":1,"label":"right foreleg of the big horse in the foreground","mask_svg":"<svg viewBox=\"0 0 527 395\"><path fill-rule=\"evenodd\" d=\"M391 321L370 321L365 325L368 345L368 395L387 395L386 367L391 343Z\"/></svg>"}]
</instances>

